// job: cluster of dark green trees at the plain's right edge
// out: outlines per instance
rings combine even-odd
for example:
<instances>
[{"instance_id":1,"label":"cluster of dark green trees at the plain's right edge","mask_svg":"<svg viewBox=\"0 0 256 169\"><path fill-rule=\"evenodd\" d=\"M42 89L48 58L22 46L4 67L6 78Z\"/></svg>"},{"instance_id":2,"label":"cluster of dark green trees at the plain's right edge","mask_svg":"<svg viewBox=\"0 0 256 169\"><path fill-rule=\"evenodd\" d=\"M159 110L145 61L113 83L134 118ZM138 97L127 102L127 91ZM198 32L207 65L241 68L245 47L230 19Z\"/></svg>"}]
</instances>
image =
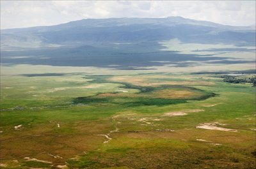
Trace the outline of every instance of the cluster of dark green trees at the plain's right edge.
<instances>
[{"instance_id":1,"label":"cluster of dark green trees at the plain's right edge","mask_svg":"<svg viewBox=\"0 0 256 169\"><path fill-rule=\"evenodd\" d=\"M221 78L223 78L224 82L228 82L232 84L250 83L253 85L253 87L256 87L256 77L243 78L243 77L236 77L236 76L230 76L230 75L223 75L221 76Z\"/></svg>"}]
</instances>

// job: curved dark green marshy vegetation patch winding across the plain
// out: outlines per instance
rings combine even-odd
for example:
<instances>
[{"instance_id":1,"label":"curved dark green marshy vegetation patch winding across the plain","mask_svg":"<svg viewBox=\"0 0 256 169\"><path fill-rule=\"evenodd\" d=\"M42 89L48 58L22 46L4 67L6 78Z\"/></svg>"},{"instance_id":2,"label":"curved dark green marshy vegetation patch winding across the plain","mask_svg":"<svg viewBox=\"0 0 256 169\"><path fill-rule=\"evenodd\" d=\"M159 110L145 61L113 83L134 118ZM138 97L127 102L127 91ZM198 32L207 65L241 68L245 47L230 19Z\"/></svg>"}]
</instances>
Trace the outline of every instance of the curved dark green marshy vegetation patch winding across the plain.
<instances>
[{"instance_id":1,"label":"curved dark green marshy vegetation patch winding across the plain","mask_svg":"<svg viewBox=\"0 0 256 169\"><path fill-rule=\"evenodd\" d=\"M186 103L187 100L200 100L207 99L215 96L213 92L205 92L194 87L184 87L182 85L159 85L159 86L140 86L133 85L127 82L112 82L109 81L111 75L100 75L100 76L88 76L87 78L92 78L90 82L99 83L114 83L122 85L124 89L137 89L136 94L118 94L116 92L110 93L98 93L95 96L88 97L78 97L73 100L74 104L94 104L94 103L114 103L119 105L124 105L125 107L136 107L141 105L172 105L177 103ZM196 92L197 96L186 96L182 98L170 99L168 96L164 96L164 90L172 91L189 91ZM156 95L157 92L161 92L163 96Z\"/></svg>"}]
</instances>

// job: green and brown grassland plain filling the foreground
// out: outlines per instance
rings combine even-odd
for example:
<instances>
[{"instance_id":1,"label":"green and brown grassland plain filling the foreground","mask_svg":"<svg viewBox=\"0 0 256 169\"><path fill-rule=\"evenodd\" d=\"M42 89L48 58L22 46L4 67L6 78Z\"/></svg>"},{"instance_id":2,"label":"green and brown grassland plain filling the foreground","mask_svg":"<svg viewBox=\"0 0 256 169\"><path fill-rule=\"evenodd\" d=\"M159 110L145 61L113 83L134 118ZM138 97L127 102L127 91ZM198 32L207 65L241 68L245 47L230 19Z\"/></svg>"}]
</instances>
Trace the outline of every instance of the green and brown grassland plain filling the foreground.
<instances>
[{"instance_id":1,"label":"green and brown grassland plain filling the foreground","mask_svg":"<svg viewBox=\"0 0 256 169\"><path fill-rule=\"evenodd\" d=\"M2 75L0 167L255 168L255 112L214 74Z\"/></svg>"}]
</instances>

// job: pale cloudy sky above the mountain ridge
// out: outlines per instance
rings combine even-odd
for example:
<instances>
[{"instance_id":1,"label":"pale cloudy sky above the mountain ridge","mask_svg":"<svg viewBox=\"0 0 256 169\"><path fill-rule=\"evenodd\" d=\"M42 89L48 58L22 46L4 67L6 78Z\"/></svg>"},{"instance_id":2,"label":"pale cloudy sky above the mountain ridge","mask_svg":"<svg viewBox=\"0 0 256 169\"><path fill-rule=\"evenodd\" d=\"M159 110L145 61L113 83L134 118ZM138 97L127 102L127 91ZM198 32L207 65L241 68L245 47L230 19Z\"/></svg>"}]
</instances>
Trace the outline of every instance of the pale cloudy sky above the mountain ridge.
<instances>
[{"instance_id":1,"label":"pale cloudy sky above the mountain ridge","mask_svg":"<svg viewBox=\"0 0 256 169\"><path fill-rule=\"evenodd\" d=\"M255 1L7 1L1 29L51 26L84 18L179 16L231 26L255 26Z\"/></svg>"}]
</instances>

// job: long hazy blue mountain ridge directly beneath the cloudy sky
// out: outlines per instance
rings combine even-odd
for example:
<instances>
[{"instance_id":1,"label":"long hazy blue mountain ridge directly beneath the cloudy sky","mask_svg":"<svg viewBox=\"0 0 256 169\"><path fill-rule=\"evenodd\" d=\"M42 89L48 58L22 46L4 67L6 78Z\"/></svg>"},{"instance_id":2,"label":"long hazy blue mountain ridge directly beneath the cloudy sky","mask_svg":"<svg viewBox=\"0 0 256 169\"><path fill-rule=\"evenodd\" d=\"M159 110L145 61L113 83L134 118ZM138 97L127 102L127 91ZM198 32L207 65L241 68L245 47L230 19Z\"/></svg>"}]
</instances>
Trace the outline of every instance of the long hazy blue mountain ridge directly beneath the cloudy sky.
<instances>
[{"instance_id":1,"label":"long hazy blue mountain ridge directly beneath the cloudy sky","mask_svg":"<svg viewBox=\"0 0 256 169\"><path fill-rule=\"evenodd\" d=\"M255 44L255 29L182 17L83 19L56 26L1 30L1 50L178 38L184 43Z\"/></svg>"}]
</instances>

